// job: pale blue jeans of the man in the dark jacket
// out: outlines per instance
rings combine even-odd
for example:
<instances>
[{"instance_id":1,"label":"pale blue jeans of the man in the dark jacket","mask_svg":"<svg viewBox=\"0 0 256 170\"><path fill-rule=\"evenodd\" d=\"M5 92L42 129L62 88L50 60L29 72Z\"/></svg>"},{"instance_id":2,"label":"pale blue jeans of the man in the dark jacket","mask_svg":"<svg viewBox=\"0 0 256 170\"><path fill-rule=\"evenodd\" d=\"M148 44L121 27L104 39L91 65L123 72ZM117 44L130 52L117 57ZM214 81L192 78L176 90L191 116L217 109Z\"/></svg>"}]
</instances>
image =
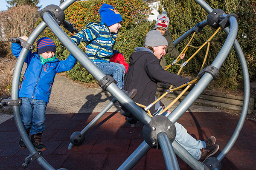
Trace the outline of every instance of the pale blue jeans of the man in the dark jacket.
<instances>
[{"instance_id":1,"label":"pale blue jeans of the man in the dark jacket","mask_svg":"<svg viewBox=\"0 0 256 170\"><path fill-rule=\"evenodd\" d=\"M159 115L163 111L163 108L160 106L157 112L154 113L154 116ZM165 111L163 116L169 116L169 113ZM206 143L201 140L196 140L187 132L186 128L180 125L179 123L174 124L176 127L176 137L175 140L186 149L195 159L199 160L201 158L201 150L206 147Z\"/></svg>"}]
</instances>

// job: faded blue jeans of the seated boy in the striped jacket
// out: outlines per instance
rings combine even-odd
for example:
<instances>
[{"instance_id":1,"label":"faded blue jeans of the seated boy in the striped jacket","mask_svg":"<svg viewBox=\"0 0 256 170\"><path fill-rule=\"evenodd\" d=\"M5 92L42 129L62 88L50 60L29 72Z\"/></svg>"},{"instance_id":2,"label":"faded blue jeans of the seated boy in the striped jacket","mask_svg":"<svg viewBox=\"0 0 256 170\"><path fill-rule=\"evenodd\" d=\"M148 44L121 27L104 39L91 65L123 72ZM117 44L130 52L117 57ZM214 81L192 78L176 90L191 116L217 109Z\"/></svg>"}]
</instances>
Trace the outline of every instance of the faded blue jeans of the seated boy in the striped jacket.
<instances>
[{"instance_id":1,"label":"faded blue jeans of the seated boy in the striped jacket","mask_svg":"<svg viewBox=\"0 0 256 170\"><path fill-rule=\"evenodd\" d=\"M102 62L97 65L105 74L113 76L117 86L122 89L125 81L125 66L116 62Z\"/></svg>"}]
</instances>

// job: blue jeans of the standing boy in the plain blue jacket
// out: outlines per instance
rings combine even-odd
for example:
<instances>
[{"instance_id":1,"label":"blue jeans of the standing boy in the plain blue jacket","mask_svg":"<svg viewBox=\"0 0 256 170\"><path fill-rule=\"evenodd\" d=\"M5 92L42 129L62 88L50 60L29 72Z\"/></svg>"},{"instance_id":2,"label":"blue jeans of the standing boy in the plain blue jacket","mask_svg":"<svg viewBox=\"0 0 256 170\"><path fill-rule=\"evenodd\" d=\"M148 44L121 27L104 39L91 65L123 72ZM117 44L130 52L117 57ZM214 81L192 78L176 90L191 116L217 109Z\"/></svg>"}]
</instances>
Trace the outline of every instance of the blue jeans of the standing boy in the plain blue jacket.
<instances>
[{"instance_id":1,"label":"blue jeans of the standing boy in the plain blue jacket","mask_svg":"<svg viewBox=\"0 0 256 170\"><path fill-rule=\"evenodd\" d=\"M21 99L21 119L25 129L31 127L31 135L35 135L38 132L42 133L44 131L45 108L47 102L28 97L21 97Z\"/></svg>"}]
</instances>

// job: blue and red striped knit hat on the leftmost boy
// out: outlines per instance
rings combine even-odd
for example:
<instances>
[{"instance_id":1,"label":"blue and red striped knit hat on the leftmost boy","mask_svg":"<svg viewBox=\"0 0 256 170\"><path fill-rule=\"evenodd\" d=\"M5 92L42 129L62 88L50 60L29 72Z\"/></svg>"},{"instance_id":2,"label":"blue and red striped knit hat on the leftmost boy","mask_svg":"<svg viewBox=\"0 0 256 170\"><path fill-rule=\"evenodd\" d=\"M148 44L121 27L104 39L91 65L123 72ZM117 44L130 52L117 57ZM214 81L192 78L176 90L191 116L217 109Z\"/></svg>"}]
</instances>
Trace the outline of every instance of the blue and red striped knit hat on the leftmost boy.
<instances>
[{"instance_id":1,"label":"blue and red striped knit hat on the leftmost boy","mask_svg":"<svg viewBox=\"0 0 256 170\"><path fill-rule=\"evenodd\" d=\"M47 51L56 51L53 40L48 37L43 37L38 40L37 50L38 54L42 54Z\"/></svg>"}]
</instances>

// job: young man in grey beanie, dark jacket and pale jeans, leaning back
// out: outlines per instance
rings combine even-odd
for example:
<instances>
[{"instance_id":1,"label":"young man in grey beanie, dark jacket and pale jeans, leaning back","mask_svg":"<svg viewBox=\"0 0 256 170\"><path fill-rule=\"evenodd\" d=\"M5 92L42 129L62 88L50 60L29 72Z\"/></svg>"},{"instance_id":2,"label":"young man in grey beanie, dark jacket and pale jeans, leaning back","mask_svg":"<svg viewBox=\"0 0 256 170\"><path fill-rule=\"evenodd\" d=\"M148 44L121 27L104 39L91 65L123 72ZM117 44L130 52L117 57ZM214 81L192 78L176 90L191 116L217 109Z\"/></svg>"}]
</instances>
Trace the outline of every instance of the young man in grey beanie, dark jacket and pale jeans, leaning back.
<instances>
[{"instance_id":1,"label":"young man in grey beanie, dark jacket and pale jeans, leaning back","mask_svg":"<svg viewBox=\"0 0 256 170\"><path fill-rule=\"evenodd\" d=\"M157 82L164 82L178 87L189 79L177 74L165 71L159 64L159 60L166 54L168 42L160 31L152 30L146 34L145 47L135 48L130 56L130 65L125 76L125 90L137 89L137 95L132 99L134 102L148 106L155 101ZM150 113L155 116L162 110L159 103L150 108ZM120 111L121 114L125 114ZM170 112L169 112L170 113ZM169 113L165 113L166 116ZM126 115L127 116L127 115ZM204 161L218 151L218 144L215 144L215 137L209 137L205 142L196 140L187 133L187 130L175 123L177 134L175 140L179 142L195 159Z\"/></svg>"}]
</instances>

